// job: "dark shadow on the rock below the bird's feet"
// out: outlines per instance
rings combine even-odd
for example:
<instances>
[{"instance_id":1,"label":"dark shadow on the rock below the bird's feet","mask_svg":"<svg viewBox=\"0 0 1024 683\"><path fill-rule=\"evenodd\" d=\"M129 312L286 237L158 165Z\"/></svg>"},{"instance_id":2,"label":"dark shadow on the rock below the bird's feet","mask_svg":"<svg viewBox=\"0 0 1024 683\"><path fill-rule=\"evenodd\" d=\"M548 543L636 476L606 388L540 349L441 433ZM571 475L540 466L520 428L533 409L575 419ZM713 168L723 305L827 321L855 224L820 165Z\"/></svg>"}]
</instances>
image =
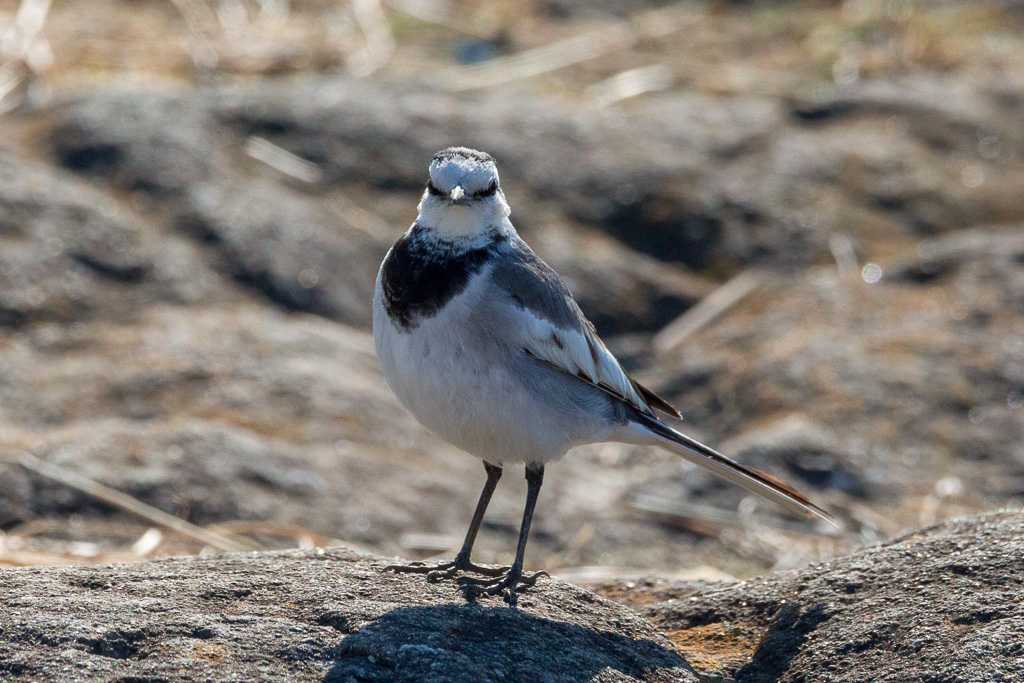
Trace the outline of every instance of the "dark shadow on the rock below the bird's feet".
<instances>
[{"instance_id":1,"label":"dark shadow on the rock below the bird's feet","mask_svg":"<svg viewBox=\"0 0 1024 683\"><path fill-rule=\"evenodd\" d=\"M473 604L394 609L346 636L334 654L325 681L584 683L609 671L637 679L692 676L678 652L653 640Z\"/></svg>"}]
</instances>

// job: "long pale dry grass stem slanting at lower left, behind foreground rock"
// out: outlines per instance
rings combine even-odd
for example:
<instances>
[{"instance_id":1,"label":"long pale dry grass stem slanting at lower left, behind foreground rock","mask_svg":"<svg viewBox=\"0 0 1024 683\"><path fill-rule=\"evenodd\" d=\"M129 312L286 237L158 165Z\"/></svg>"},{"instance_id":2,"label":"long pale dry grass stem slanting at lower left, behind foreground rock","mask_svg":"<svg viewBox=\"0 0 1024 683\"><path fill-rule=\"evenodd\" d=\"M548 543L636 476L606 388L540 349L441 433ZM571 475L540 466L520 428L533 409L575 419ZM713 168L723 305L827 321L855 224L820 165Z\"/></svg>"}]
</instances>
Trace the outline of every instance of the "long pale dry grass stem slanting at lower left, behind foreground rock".
<instances>
[{"instance_id":1,"label":"long pale dry grass stem slanting at lower left, behind foreground rock","mask_svg":"<svg viewBox=\"0 0 1024 683\"><path fill-rule=\"evenodd\" d=\"M22 467L31 472L35 472L36 474L44 476L48 479L58 481L66 486L88 494L89 496L92 496L96 500L102 501L108 505L130 512L141 517L142 519L157 524L158 526L180 533L181 536L198 541L204 545L210 546L211 548L216 548L217 550L226 552L259 550L260 548L258 544L247 539L232 539L221 533L217 533L216 531L205 529L202 526L197 526L191 522L185 521L180 517L175 517L172 514L168 514L159 508L147 505L132 498L131 496L128 496L127 494L123 494L120 490L101 484L98 481L76 474L75 472L70 472L58 465L42 461L32 454L22 454L22 456L16 458L14 462L17 462L22 465Z\"/></svg>"}]
</instances>

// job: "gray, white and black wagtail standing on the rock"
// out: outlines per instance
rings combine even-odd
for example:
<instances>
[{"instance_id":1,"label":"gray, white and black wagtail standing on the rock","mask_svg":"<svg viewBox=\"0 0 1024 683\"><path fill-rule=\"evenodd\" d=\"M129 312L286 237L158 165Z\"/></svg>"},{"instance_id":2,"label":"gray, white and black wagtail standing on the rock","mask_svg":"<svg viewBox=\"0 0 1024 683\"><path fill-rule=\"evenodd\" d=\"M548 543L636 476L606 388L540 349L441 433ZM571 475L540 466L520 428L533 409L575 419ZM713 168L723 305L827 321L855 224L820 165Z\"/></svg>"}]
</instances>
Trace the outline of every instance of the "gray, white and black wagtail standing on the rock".
<instances>
[{"instance_id":1,"label":"gray, white and black wagtail standing on the rock","mask_svg":"<svg viewBox=\"0 0 1024 683\"><path fill-rule=\"evenodd\" d=\"M490 155L441 150L429 162L416 220L378 270L373 334L384 379L428 430L482 460L486 475L454 560L388 570L455 578L467 599L501 596L515 607L547 575L523 569L545 466L604 441L662 446L791 511L833 521L802 494L673 426L679 411L623 370L510 216ZM509 566L479 565L473 545L510 465L524 466L527 484L515 556Z\"/></svg>"}]
</instances>

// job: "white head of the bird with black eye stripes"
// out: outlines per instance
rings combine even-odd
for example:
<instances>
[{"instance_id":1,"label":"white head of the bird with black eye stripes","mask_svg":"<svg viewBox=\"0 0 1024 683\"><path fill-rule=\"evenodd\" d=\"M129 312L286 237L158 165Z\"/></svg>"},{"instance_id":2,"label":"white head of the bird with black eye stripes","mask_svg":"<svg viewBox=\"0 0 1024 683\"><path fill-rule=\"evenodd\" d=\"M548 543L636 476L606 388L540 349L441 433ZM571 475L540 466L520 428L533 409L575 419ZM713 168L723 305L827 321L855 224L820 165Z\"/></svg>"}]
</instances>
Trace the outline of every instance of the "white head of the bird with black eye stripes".
<instances>
[{"instance_id":1,"label":"white head of the bird with black eye stripes","mask_svg":"<svg viewBox=\"0 0 1024 683\"><path fill-rule=\"evenodd\" d=\"M490 155L469 147L441 150L430 160L420 222L450 237L472 237L509 215Z\"/></svg>"}]
</instances>

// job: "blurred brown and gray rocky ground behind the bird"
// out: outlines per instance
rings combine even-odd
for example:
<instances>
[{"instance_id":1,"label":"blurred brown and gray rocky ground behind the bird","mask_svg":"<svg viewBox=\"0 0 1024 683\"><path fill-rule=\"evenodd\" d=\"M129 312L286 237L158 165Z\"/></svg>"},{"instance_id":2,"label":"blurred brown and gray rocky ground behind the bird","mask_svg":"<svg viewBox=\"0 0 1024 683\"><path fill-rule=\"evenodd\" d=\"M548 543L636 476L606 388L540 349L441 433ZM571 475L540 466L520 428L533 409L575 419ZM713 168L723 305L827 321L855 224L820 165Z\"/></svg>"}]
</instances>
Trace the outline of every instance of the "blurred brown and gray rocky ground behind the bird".
<instances>
[{"instance_id":1,"label":"blurred brown and gray rocky ground behind the bird","mask_svg":"<svg viewBox=\"0 0 1024 683\"><path fill-rule=\"evenodd\" d=\"M369 336L450 144L692 435L845 524L608 444L529 565L748 577L1024 495L1024 3L0 0L0 564L451 554L482 468Z\"/></svg>"}]
</instances>

